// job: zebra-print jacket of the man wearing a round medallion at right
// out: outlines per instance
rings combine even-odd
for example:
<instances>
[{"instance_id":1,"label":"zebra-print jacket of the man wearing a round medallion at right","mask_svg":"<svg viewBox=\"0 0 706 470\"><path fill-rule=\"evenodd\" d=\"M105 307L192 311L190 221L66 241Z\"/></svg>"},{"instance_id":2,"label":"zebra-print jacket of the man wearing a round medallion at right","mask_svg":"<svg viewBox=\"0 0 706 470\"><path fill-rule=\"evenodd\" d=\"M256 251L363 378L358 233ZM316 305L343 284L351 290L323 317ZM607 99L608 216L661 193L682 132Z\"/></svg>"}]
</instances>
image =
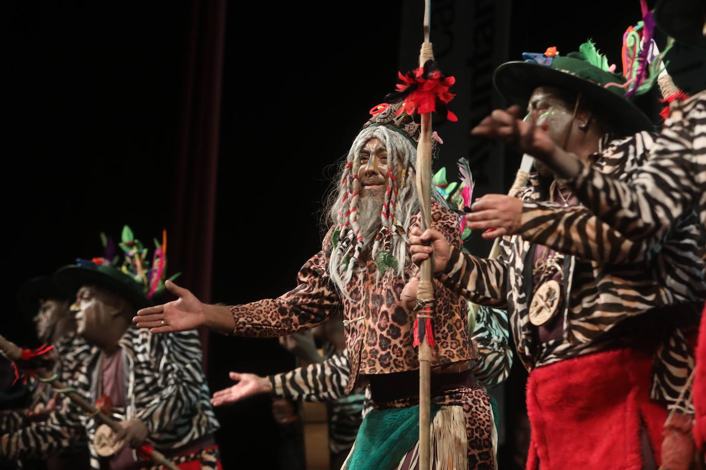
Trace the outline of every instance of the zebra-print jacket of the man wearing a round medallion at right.
<instances>
[{"instance_id":1,"label":"zebra-print jacket of the man wearing a round medallion at right","mask_svg":"<svg viewBox=\"0 0 706 470\"><path fill-rule=\"evenodd\" d=\"M596 168L630 180L654 140L640 132L606 143ZM659 249L646 252L644 244L623 237L593 214L580 221L556 217L558 206L542 202L537 180L532 179L519 197L525 201L522 235L504 237L497 260L453 249L441 280L472 302L508 308L517 352L527 369L621 345L624 338L611 330L647 311L683 304L683 310L698 315L696 305L706 298L706 281L700 228L693 215L678 219ZM585 208L563 210L575 214ZM563 338L543 344L534 339L528 316L532 276L525 260L531 259L537 243L570 255L564 264L563 298L568 302L562 312ZM670 333L659 347L652 396L674 404L693 367L693 354L684 330Z\"/></svg>"}]
</instances>

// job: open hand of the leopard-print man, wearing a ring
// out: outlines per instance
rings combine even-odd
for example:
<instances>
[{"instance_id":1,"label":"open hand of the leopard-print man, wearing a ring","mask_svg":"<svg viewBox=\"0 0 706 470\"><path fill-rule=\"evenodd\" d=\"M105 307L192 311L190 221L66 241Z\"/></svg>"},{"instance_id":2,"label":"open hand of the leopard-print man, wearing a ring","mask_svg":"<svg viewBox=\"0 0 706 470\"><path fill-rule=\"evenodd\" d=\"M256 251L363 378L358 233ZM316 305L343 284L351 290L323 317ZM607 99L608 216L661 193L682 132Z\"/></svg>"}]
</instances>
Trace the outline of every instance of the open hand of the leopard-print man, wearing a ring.
<instances>
[{"instance_id":1,"label":"open hand of the leopard-print man, wearing a ring","mask_svg":"<svg viewBox=\"0 0 706 470\"><path fill-rule=\"evenodd\" d=\"M167 280L164 286L179 299L138 310L137 316L133 318L138 328L150 328L150 333L171 333L205 325L205 304L201 300L171 280Z\"/></svg>"}]
</instances>

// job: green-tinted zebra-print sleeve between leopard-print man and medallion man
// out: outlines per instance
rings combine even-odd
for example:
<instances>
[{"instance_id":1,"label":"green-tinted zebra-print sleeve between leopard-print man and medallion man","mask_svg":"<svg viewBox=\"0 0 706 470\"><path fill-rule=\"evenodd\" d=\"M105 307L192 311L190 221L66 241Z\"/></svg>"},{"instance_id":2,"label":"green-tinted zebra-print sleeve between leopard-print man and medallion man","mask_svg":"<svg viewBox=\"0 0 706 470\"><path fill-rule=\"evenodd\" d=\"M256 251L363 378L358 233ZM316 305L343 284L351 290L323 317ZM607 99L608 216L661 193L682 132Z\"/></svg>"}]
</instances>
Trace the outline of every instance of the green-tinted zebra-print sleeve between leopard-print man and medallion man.
<instances>
[{"instance_id":1,"label":"green-tinted zebra-print sleeve between leopard-print man and medallion man","mask_svg":"<svg viewBox=\"0 0 706 470\"><path fill-rule=\"evenodd\" d=\"M478 345L480 357L476 359L473 373L480 383L494 387L503 383L513 366L510 348L510 323L504 310L481 306L476 313L473 340Z\"/></svg>"}]
</instances>

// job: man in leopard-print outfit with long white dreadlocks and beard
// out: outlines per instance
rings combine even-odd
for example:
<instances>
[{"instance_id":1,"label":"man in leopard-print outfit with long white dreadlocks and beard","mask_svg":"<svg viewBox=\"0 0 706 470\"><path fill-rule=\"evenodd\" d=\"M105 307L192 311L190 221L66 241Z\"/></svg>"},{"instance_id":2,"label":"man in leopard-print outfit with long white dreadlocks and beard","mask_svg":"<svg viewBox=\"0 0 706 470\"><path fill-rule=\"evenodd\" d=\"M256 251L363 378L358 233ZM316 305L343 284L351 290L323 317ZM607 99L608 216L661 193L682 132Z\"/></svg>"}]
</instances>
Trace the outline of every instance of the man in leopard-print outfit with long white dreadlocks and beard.
<instances>
[{"instance_id":1,"label":"man in leopard-print outfit with long white dreadlocks and beard","mask_svg":"<svg viewBox=\"0 0 706 470\"><path fill-rule=\"evenodd\" d=\"M414 327L416 312L409 308L414 299L405 294L416 290L419 277L407 249L407 234L420 225L413 178L419 125L400 113L399 104L370 112L336 181L332 226L321 251L299 271L294 290L277 299L225 307L203 304L167 281L179 299L140 310L133 321L152 333L208 326L220 333L272 338L313 328L342 311L347 392L370 385L373 405L344 468L411 470L419 461L414 342L422 328ZM437 199L443 202L441 194ZM460 218L445 204L432 204L431 226L461 247ZM426 336L432 336L433 351L432 459L437 469L492 469L497 433L489 396L474 375L482 361L475 360L469 339L466 304L438 281L435 287L436 328Z\"/></svg>"}]
</instances>

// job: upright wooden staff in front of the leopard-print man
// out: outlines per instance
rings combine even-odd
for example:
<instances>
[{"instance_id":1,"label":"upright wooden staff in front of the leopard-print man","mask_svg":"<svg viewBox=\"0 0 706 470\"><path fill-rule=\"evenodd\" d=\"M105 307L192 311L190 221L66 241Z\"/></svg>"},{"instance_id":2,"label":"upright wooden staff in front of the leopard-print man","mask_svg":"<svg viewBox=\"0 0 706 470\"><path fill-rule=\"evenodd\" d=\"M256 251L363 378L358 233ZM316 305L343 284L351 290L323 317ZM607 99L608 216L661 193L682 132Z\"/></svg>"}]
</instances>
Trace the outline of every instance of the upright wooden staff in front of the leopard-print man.
<instances>
[{"instance_id":1,"label":"upright wooden staff in front of the leopard-print man","mask_svg":"<svg viewBox=\"0 0 706 470\"><path fill-rule=\"evenodd\" d=\"M429 42L429 13L431 0L424 1L424 43L419 52L419 67L424 67L426 61L433 59L433 50ZM417 143L417 193L421 207L421 230L431 227L431 113L421 115L421 130ZM421 305L432 306L433 312L433 256L422 261L420 266L421 276L417 289L417 299ZM429 315L429 311L424 312ZM417 319L423 323L424 319ZM419 327L419 470L429 470L431 460L429 431L431 426L431 347L426 342L426 334L421 334Z\"/></svg>"}]
</instances>

